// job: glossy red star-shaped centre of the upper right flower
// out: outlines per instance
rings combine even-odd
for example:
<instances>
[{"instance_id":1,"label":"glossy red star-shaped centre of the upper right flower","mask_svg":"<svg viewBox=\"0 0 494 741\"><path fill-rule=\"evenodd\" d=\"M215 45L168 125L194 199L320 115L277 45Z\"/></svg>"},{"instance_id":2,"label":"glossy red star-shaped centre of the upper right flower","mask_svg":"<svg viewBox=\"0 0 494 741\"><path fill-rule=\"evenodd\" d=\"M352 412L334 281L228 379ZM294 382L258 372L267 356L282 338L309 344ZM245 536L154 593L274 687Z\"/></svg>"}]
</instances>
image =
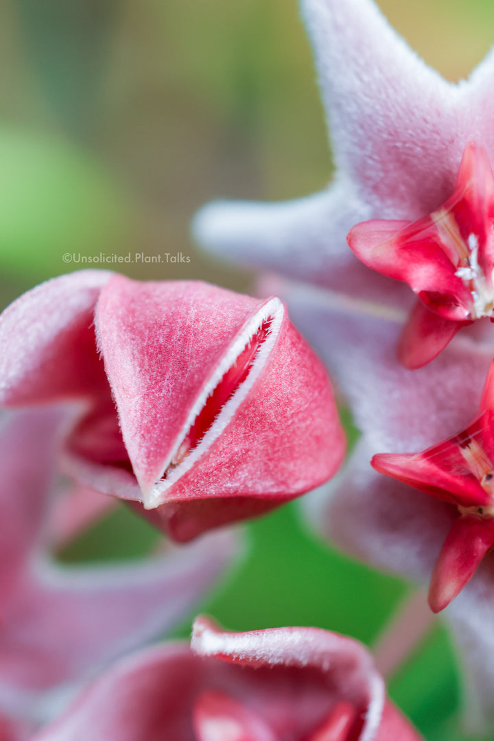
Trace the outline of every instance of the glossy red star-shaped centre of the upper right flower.
<instances>
[{"instance_id":1,"label":"glossy red star-shaped centre of the upper right flower","mask_svg":"<svg viewBox=\"0 0 494 741\"><path fill-rule=\"evenodd\" d=\"M407 368L435 358L462 327L494 321L494 176L487 152L470 143L455 191L416 222L374 219L350 230L348 244L379 273L418 296L401 335Z\"/></svg>"}]
</instances>

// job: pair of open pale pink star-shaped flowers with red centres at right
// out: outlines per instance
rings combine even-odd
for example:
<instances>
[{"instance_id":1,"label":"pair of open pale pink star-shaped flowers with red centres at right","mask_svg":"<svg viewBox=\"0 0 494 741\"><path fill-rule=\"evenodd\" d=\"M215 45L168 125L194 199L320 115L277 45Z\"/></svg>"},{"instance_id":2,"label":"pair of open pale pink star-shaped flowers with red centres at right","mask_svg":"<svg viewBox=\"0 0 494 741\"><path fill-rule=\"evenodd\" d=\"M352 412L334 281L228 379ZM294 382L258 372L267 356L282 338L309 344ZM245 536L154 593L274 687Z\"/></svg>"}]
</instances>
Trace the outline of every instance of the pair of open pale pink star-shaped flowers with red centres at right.
<instances>
[{"instance_id":1,"label":"pair of open pale pink star-shaped flowers with red centres at right","mask_svg":"<svg viewBox=\"0 0 494 741\"><path fill-rule=\"evenodd\" d=\"M260 290L284 296L361 433L344 471L305 510L350 554L428 580L433 611L451 602L470 725L489 728L494 55L453 84L373 0L301 5L336 176L294 202L207 205L196 239L292 279L264 277Z\"/></svg>"}]
</instances>

